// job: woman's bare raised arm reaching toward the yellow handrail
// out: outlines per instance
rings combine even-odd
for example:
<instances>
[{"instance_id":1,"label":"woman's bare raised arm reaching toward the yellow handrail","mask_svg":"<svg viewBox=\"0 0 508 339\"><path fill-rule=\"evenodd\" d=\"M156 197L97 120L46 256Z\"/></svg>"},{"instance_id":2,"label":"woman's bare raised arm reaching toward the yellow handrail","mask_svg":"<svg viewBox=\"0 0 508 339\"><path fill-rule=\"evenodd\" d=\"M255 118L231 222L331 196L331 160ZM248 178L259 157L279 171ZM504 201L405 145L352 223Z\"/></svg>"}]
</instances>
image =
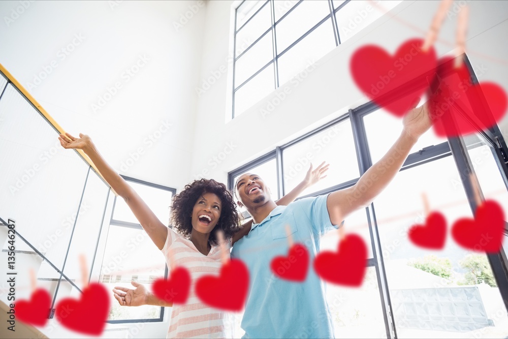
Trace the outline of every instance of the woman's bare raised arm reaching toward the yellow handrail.
<instances>
[{"instance_id":1,"label":"woman's bare raised arm reaching toward the yellow handrail","mask_svg":"<svg viewBox=\"0 0 508 339\"><path fill-rule=\"evenodd\" d=\"M96 165L109 186L129 205L129 208L131 208L141 227L143 227L153 243L159 250L162 250L168 236L168 227L157 219L136 191L106 163L90 137L80 133L79 138L75 138L66 133L65 136L60 134L58 139L63 148L82 149L85 152L93 164Z\"/></svg>"}]
</instances>

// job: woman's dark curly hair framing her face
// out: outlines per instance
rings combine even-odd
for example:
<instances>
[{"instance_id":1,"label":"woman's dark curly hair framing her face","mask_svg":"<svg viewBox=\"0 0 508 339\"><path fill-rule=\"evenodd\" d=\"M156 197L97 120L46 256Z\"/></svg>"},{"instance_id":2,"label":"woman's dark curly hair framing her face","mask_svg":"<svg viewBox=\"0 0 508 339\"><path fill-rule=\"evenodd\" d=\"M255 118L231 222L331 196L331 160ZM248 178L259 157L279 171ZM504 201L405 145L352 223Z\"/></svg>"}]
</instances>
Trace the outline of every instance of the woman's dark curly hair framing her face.
<instances>
[{"instance_id":1,"label":"woman's dark curly hair framing her face","mask_svg":"<svg viewBox=\"0 0 508 339\"><path fill-rule=\"evenodd\" d=\"M218 230L222 230L224 237L228 239L239 230L240 226L240 216L236 210L236 203L224 183L213 179L200 179L185 185L185 189L173 197L171 223L178 233L188 238L193 229L192 212L194 205L205 193L215 194L222 204L219 221L208 239L211 244L217 244L216 232Z\"/></svg>"}]
</instances>

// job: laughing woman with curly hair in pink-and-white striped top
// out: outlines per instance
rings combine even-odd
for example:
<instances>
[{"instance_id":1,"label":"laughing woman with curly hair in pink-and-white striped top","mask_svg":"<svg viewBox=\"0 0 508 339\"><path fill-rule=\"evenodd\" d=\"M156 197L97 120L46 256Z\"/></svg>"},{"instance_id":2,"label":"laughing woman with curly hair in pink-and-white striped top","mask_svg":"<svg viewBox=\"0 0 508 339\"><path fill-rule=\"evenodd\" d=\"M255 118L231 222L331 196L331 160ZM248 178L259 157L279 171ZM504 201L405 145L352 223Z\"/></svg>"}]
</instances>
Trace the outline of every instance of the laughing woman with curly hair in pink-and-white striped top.
<instances>
[{"instance_id":1,"label":"laughing woman with curly hair in pink-and-white striped top","mask_svg":"<svg viewBox=\"0 0 508 339\"><path fill-rule=\"evenodd\" d=\"M67 136L67 137L66 137ZM173 198L171 230L155 217L155 214L102 158L96 146L87 135L75 138L69 133L58 138L64 148L82 149L96 165L111 188L129 205L139 223L150 239L161 250L168 267L183 266L191 275L190 294L184 305L172 307L170 327L167 337L226 337L225 312L202 303L194 291L200 276L218 274L221 266L220 246L217 231L224 232L228 248L250 230L251 221L239 227L240 218L233 197L223 183L215 180L195 180L187 184L185 190ZM328 166L321 164L288 195L277 203L292 202L304 189L321 178ZM176 232L175 232L176 230ZM172 306L167 301L156 298L144 286L132 282L137 287L130 290L116 287L113 292L120 305L138 306L144 304Z\"/></svg>"}]
</instances>

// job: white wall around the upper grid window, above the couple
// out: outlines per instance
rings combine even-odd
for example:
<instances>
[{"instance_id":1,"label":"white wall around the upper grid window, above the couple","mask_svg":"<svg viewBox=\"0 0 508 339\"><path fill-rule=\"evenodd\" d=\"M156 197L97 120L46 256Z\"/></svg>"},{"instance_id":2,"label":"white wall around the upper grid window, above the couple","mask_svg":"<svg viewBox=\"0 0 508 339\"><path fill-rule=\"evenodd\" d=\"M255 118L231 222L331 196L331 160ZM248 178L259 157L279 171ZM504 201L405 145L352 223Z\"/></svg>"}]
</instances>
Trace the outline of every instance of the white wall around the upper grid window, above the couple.
<instances>
[{"instance_id":1,"label":"white wall around the upper grid window, above the couple","mask_svg":"<svg viewBox=\"0 0 508 339\"><path fill-rule=\"evenodd\" d=\"M508 88L508 47L503 42L508 32L508 2L468 1L470 7L466 52L475 69L483 68L481 81L495 81ZM230 12L232 2L209 2L205 23L205 38L201 78L226 65L230 39ZM454 3L459 6L459 2ZM368 102L357 88L350 74L349 60L356 48L368 43L383 46L394 52L403 41L412 37L423 38L439 5L437 1L405 1L388 15L376 20L367 28L339 45L321 60L317 67L298 87L291 86L291 94L269 115L260 109L275 97L272 94L240 116L224 124L230 115L224 75L198 99L196 115L195 151L192 157L192 176L227 181L227 173L267 151L273 150L295 137L346 113L347 109ZM445 18L438 41L438 55L449 53L455 47L457 16ZM285 85L288 85L285 84ZM281 84L280 88L285 86ZM504 137L508 137L508 116L501 122ZM250 128L255 127L255 131ZM249 132L251 131L251 132ZM218 165L213 155L223 151L228 142L236 146ZM207 172L208 171L208 172Z\"/></svg>"}]
</instances>

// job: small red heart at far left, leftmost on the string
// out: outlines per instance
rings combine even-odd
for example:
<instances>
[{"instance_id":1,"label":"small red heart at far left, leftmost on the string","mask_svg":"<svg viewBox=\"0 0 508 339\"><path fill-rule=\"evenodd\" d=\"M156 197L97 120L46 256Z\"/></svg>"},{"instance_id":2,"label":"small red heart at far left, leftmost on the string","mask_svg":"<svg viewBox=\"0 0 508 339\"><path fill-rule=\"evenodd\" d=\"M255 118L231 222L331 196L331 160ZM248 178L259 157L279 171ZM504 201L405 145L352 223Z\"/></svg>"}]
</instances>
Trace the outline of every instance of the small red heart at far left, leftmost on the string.
<instances>
[{"instance_id":1,"label":"small red heart at far left, leftmost on the string","mask_svg":"<svg viewBox=\"0 0 508 339\"><path fill-rule=\"evenodd\" d=\"M16 318L34 326L44 326L48 321L51 297L46 290L35 290L30 300L18 300L14 304Z\"/></svg>"}]
</instances>

